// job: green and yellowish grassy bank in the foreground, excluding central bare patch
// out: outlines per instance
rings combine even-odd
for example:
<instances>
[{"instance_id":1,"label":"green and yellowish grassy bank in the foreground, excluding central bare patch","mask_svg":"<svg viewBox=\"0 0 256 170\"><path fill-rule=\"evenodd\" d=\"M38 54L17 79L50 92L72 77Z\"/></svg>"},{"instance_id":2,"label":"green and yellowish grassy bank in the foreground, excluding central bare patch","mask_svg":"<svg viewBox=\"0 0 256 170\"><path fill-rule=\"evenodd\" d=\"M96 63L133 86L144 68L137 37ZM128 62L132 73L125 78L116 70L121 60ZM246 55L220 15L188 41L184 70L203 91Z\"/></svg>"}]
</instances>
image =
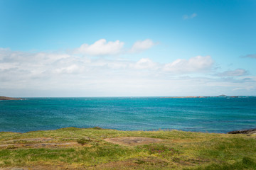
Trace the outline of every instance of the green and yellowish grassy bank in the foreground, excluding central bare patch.
<instances>
[{"instance_id":1,"label":"green and yellowish grassy bank in the foreground, excluding central bare patch","mask_svg":"<svg viewBox=\"0 0 256 170\"><path fill-rule=\"evenodd\" d=\"M151 137L122 145L112 137ZM0 132L0 167L30 169L256 169L256 135L63 128Z\"/></svg>"}]
</instances>

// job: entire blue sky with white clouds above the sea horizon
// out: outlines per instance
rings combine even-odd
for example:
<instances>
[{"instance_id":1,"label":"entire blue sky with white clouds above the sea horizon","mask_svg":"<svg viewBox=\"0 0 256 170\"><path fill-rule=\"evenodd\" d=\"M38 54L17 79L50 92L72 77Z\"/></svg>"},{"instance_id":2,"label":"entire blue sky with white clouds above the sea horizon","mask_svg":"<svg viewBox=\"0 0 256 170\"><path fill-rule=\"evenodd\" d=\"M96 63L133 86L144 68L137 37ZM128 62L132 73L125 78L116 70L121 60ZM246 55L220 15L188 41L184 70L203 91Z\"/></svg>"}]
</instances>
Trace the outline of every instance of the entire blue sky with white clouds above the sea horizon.
<instances>
[{"instance_id":1,"label":"entire blue sky with white clouds above the sea horizon","mask_svg":"<svg viewBox=\"0 0 256 170\"><path fill-rule=\"evenodd\" d=\"M0 96L256 96L255 9L0 0Z\"/></svg>"}]
</instances>

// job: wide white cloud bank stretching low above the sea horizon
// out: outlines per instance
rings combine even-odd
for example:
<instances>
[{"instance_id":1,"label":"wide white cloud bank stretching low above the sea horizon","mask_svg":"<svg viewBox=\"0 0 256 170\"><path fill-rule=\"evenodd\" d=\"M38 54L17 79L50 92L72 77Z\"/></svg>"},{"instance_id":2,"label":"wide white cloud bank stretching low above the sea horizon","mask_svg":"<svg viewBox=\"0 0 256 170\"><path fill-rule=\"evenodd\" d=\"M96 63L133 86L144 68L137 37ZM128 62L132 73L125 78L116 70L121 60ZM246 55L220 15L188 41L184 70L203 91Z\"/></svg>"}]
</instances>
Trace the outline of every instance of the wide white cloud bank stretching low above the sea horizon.
<instances>
[{"instance_id":1,"label":"wide white cloud bank stretching low above the sea horizon","mask_svg":"<svg viewBox=\"0 0 256 170\"><path fill-rule=\"evenodd\" d=\"M1 96L196 96L255 91L256 77L245 69L216 72L210 56L166 63L142 57L129 60L102 55L136 55L155 45L151 40L101 39L81 45L77 53L18 52L0 49ZM74 50L74 51L75 51ZM81 56L82 54L82 56ZM225 93L226 94L226 93ZM228 94L227 94L228 95Z\"/></svg>"}]
</instances>

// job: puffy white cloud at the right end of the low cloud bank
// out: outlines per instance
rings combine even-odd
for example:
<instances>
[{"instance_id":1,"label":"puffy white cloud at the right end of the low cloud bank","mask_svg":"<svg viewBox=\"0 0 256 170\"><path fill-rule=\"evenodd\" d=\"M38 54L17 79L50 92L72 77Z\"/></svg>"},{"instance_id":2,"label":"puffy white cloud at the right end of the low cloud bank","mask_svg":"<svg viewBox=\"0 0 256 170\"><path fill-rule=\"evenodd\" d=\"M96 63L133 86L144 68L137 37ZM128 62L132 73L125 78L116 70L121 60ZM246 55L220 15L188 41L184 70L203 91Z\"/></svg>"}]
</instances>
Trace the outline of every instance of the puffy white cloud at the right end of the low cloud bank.
<instances>
[{"instance_id":1,"label":"puffy white cloud at the right end of the low cloud bank","mask_svg":"<svg viewBox=\"0 0 256 170\"><path fill-rule=\"evenodd\" d=\"M164 71L173 73L193 73L206 72L213 66L213 60L210 56L191 57L189 60L178 59L174 62L164 65Z\"/></svg>"}]
</instances>

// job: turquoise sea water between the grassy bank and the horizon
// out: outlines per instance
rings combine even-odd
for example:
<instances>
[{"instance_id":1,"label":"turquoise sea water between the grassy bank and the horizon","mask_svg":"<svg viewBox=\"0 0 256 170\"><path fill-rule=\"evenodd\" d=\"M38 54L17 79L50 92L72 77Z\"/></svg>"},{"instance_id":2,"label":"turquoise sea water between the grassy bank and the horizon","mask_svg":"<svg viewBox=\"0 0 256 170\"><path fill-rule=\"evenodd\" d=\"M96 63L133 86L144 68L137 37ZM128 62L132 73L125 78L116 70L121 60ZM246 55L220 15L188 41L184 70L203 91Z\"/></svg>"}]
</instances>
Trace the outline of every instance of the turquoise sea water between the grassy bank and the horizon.
<instances>
[{"instance_id":1,"label":"turquoise sea water between the grassy bank and the horizon","mask_svg":"<svg viewBox=\"0 0 256 170\"><path fill-rule=\"evenodd\" d=\"M0 101L0 131L65 127L229 132L256 128L256 97L25 98Z\"/></svg>"}]
</instances>

